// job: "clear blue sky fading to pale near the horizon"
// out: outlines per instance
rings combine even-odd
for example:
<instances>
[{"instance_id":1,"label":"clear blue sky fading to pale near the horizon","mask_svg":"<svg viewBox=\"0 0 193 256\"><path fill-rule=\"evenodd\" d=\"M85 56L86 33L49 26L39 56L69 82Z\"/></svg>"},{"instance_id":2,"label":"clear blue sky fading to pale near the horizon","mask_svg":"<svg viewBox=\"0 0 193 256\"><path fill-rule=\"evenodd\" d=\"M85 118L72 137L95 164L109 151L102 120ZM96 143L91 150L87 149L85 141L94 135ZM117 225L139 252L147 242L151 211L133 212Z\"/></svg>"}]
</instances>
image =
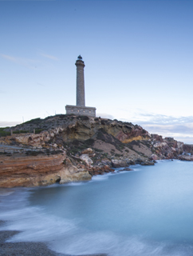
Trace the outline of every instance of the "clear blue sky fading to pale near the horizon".
<instances>
[{"instance_id":1,"label":"clear blue sky fading to pale near the horizon","mask_svg":"<svg viewBox=\"0 0 193 256\"><path fill-rule=\"evenodd\" d=\"M0 0L0 126L65 114L97 116L193 144L192 0Z\"/></svg>"}]
</instances>

